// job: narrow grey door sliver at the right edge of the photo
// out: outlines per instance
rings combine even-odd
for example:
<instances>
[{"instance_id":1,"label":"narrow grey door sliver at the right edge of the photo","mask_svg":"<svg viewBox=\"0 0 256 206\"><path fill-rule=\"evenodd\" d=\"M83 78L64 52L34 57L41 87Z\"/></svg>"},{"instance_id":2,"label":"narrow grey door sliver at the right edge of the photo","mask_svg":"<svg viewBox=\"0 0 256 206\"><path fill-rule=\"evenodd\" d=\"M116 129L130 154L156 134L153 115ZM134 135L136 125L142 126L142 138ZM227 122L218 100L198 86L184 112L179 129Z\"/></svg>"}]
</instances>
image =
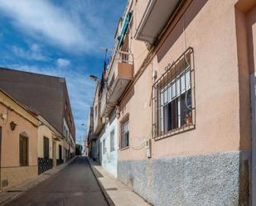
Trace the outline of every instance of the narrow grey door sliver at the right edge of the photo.
<instances>
[{"instance_id":1,"label":"narrow grey door sliver at the right edge of the photo","mask_svg":"<svg viewBox=\"0 0 256 206\"><path fill-rule=\"evenodd\" d=\"M251 106L252 106L252 170L251 195L252 206L256 206L256 73L251 74Z\"/></svg>"}]
</instances>

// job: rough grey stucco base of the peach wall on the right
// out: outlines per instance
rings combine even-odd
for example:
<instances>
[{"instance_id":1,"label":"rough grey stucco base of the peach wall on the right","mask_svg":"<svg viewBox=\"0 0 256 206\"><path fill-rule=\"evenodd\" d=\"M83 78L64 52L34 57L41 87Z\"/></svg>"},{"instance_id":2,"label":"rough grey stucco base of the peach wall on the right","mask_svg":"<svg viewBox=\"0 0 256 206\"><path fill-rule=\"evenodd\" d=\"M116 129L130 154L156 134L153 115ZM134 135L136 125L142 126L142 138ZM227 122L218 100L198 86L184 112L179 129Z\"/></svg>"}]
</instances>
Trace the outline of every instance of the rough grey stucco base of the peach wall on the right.
<instances>
[{"instance_id":1,"label":"rough grey stucco base of the peach wall on the right","mask_svg":"<svg viewBox=\"0 0 256 206\"><path fill-rule=\"evenodd\" d=\"M118 179L154 206L248 205L249 152L118 161Z\"/></svg>"}]
</instances>

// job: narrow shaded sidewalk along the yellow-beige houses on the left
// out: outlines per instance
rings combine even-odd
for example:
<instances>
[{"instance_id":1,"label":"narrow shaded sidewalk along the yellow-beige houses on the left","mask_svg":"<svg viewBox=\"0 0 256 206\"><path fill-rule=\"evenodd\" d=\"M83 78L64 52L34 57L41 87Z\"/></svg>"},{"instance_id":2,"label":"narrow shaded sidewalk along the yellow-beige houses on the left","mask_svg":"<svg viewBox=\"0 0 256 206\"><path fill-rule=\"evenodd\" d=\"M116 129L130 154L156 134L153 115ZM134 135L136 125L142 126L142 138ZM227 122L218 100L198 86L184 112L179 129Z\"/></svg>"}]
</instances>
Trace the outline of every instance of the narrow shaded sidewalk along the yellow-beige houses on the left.
<instances>
[{"instance_id":1,"label":"narrow shaded sidewalk along the yellow-beige houses on the left","mask_svg":"<svg viewBox=\"0 0 256 206\"><path fill-rule=\"evenodd\" d=\"M24 194L28 189L36 186L36 184L40 184L42 181L50 178L52 175L55 175L60 170L63 170L67 165L69 165L75 157L62 165L58 165L51 170L47 170L46 172L42 173L41 175L36 176L30 180L23 182L22 184L18 184L13 186L7 190L0 192L0 206L7 204L12 199L16 199L17 197Z\"/></svg>"}]
</instances>

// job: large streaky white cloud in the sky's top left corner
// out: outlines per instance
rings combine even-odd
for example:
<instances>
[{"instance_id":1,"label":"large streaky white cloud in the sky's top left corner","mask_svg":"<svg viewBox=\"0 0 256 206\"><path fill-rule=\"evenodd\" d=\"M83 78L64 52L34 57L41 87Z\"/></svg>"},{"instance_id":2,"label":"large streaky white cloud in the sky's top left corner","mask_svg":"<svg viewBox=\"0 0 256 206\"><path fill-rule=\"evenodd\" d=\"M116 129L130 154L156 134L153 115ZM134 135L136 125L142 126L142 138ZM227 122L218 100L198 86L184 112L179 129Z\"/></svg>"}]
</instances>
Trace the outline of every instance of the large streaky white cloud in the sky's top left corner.
<instances>
[{"instance_id":1,"label":"large streaky white cloud in the sky's top left corner","mask_svg":"<svg viewBox=\"0 0 256 206\"><path fill-rule=\"evenodd\" d=\"M46 37L53 45L83 50L85 34L80 25L48 0L0 0L0 10L22 31Z\"/></svg>"}]
</instances>

